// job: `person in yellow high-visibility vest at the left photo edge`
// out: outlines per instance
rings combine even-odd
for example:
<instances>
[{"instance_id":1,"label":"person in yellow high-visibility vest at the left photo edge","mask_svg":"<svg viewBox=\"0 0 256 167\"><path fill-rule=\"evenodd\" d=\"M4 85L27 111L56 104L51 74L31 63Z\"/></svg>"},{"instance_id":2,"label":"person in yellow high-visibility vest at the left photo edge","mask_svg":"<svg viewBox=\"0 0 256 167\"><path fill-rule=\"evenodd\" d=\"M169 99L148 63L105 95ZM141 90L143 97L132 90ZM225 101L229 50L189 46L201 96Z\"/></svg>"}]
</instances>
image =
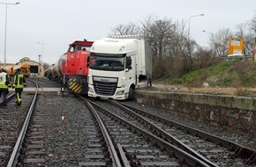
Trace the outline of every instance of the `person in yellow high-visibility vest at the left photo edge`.
<instances>
[{"instance_id":1,"label":"person in yellow high-visibility vest at the left photo edge","mask_svg":"<svg viewBox=\"0 0 256 167\"><path fill-rule=\"evenodd\" d=\"M3 95L3 106L7 106L7 94L9 93L9 88L11 87L10 76L6 73L5 69L0 69L0 98Z\"/></svg>"}]
</instances>

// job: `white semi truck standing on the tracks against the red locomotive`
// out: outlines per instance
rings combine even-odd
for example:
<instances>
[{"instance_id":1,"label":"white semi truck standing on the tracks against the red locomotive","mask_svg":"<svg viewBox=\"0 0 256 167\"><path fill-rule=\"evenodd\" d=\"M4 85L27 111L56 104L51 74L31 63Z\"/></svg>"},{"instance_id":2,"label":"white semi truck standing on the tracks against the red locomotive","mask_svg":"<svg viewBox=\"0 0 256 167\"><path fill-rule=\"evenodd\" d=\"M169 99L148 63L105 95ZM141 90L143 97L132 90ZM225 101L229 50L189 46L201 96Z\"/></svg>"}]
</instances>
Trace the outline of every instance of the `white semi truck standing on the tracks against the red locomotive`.
<instances>
[{"instance_id":1,"label":"white semi truck standing on the tracks against the red locomotive","mask_svg":"<svg viewBox=\"0 0 256 167\"><path fill-rule=\"evenodd\" d=\"M143 36L94 41L90 52L88 97L134 98L133 90L151 86L152 50Z\"/></svg>"}]
</instances>

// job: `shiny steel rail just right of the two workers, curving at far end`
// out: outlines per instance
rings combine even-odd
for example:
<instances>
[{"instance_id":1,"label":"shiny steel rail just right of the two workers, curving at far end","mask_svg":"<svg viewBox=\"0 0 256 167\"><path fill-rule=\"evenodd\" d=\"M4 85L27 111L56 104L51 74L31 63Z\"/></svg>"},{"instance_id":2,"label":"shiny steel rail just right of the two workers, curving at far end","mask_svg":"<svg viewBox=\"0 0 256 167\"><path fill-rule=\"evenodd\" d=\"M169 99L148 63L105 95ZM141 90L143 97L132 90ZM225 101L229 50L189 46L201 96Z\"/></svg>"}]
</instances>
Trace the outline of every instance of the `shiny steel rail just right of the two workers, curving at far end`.
<instances>
[{"instance_id":1,"label":"shiny steel rail just right of the two workers, curving at far end","mask_svg":"<svg viewBox=\"0 0 256 167\"><path fill-rule=\"evenodd\" d=\"M31 81L31 80L30 80ZM34 92L34 98L33 98L33 101L30 105L30 108L27 112L27 115L26 115L26 120L21 128L21 131L19 133L19 138L15 144L15 147L14 149L12 150L12 153L11 153L11 157L9 159L9 162L7 164L7 167L14 167L17 165L18 163L18 158L19 158L19 152L20 152L20 149L22 147L22 143L24 141L24 138L25 138L25 135L26 135L26 131L27 131L27 127L28 127L28 124L29 124L29 121L30 121L30 118L31 118L31 115L34 111L34 105L36 103L36 99L37 99L37 93L38 93L38 84L36 84L34 81L31 81L35 84L35 92Z\"/></svg>"}]
</instances>

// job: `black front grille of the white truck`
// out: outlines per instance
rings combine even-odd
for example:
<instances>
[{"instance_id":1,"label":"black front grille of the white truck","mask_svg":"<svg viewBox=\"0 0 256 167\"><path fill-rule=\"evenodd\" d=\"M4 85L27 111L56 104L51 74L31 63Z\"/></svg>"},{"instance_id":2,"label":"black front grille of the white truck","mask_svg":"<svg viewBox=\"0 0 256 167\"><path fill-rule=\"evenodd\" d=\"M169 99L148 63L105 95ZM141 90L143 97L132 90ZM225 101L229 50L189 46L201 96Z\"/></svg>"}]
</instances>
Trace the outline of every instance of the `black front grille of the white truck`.
<instances>
[{"instance_id":1,"label":"black front grille of the white truck","mask_svg":"<svg viewBox=\"0 0 256 167\"><path fill-rule=\"evenodd\" d=\"M117 78L94 76L94 91L98 95L113 96L117 90Z\"/></svg>"}]
</instances>

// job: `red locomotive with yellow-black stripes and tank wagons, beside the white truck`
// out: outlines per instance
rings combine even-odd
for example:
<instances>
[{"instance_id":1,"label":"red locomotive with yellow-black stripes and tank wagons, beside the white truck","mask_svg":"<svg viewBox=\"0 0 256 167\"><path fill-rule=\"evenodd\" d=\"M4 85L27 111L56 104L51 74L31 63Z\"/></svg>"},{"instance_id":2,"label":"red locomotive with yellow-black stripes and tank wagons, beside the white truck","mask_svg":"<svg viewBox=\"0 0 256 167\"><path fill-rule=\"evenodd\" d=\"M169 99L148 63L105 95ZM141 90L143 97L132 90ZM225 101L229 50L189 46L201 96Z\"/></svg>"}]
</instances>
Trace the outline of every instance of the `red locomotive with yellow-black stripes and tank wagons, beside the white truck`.
<instances>
[{"instance_id":1,"label":"red locomotive with yellow-black stripes and tank wagons, beside the white truck","mask_svg":"<svg viewBox=\"0 0 256 167\"><path fill-rule=\"evenodd\" d=\"M67 86L71 91L87 95L88 60L93 43L87 40L74 41L67 52L45 70L44 76Z\"/></svg>"}]
</instances>

